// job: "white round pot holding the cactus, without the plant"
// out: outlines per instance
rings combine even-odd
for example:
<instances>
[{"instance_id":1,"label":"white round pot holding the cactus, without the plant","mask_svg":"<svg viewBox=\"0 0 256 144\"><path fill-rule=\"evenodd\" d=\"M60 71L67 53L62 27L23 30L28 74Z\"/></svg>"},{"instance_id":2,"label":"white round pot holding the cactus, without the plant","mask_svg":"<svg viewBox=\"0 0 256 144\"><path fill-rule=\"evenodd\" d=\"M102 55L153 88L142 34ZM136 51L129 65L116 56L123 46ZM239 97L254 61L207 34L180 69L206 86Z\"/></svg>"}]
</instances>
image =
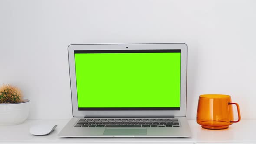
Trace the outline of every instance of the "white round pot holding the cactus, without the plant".
<instances>
[{"instance_id":1,"label":"white round pot holding the cactus, without the plant","mask_svg":"<svg viewBox=\"0 0 256 144\"><path fill-rule=\"evenodd\" d=\"M0 104L0 125L14 125L23 123L29 115L28 99L15 104Z\"/></svg>"}]
</instances>

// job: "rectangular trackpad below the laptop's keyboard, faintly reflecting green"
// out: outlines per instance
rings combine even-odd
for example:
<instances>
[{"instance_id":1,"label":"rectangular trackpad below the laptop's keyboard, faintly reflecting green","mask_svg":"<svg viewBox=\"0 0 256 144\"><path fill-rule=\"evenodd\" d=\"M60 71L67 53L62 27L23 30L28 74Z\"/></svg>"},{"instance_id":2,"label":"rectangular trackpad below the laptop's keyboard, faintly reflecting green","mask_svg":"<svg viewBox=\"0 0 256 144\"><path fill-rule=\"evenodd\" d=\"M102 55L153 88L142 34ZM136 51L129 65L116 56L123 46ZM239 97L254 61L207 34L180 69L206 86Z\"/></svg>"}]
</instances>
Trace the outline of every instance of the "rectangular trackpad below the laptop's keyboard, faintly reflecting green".
<instances>
[{"instance_id":1,"label":"rectangular trackpad below the laptop's keyboard, faintly reflecting green","mask_svg":"<svg viewBox=\"0 0 256 144\"><path fill-rule=\"evenodd\" d=\"M106 128L103 135L147 135L146 128Z\"/></svg>"}]
</instances>

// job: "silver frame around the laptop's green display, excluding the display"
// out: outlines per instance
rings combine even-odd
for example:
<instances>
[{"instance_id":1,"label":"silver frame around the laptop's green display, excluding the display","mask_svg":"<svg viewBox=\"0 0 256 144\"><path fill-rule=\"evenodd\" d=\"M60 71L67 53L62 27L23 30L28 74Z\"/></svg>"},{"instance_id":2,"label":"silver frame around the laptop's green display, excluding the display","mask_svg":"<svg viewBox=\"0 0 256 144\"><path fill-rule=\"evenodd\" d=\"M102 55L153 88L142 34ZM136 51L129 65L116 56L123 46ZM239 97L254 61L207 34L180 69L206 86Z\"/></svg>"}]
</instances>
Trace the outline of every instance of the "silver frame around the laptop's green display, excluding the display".
<instances>
[{"instance_id":1,"label":"silver frame around the laptop's green display, excluding the display","mask_svg":"<svg viewBox=\"0 0 256 144\"><path fill-rule=\"evenodd\" d=\"M181 50L181 96L180 108L78 108L75 51L152 51L152 50ZM69 73L72 95L72 112L74 117L184 117L186 116L187 91L187 45L184 43L164 44L85 44L69 45Z\"/></svg>"}]
</instances>

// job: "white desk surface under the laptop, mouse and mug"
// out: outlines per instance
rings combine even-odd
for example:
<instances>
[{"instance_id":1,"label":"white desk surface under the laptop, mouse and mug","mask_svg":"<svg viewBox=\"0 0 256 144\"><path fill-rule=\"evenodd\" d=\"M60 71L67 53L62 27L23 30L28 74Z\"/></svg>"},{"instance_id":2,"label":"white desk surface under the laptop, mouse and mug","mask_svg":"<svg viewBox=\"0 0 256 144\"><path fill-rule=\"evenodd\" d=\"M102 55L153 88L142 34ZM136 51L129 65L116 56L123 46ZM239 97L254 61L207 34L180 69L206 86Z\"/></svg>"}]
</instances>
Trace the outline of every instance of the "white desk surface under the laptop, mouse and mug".
<instances>
[{"instance_id":1,"label":"white desk surface under the laptop, mouse and mug","mask_svg":"<svg viewBox=\"0 0 256 144\"><path fill-rule=\"evenodd\" d=\"M69 120L29 120L20 125L0 126L0 144L18 143L84 143L84 144L203 144L203 143L251 143L256 144L256 120L242 120L226 130L206 130L200 127L195 120L190 120L192 137L189 138L62 138L57 134ZM55 131L47 136L33 136L29 128L33 124L50 122L58 124Z\"/></svg>"}]
</instances>

